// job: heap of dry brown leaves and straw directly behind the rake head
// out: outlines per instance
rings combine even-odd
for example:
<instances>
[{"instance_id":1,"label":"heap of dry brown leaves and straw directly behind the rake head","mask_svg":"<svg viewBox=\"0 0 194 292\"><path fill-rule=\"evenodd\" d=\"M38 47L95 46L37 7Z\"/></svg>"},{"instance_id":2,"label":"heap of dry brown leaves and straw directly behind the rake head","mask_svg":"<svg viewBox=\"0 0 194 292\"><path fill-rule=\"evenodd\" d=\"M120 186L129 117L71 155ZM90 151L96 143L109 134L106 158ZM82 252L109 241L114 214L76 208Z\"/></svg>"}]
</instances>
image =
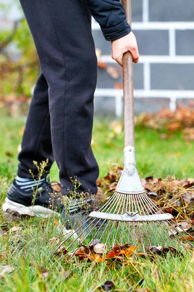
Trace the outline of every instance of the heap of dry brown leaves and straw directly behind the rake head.
<instances>
[{"instance_id":1,"label":"heap of dry brown leaves and straw directly behind the rake head","mask_svg":"<svg viewBox=\"0 0 194 292\"><path fill-rule=\"evenodd\" d=\"M105 202L114 193L123 168L115 165L104 179L98 179L98 200ZM147 195L164 213L177 220L194 224L194 179L180 180L168 175L165 179L147 177L141 180Z\"/></svg>"}]
</instances>

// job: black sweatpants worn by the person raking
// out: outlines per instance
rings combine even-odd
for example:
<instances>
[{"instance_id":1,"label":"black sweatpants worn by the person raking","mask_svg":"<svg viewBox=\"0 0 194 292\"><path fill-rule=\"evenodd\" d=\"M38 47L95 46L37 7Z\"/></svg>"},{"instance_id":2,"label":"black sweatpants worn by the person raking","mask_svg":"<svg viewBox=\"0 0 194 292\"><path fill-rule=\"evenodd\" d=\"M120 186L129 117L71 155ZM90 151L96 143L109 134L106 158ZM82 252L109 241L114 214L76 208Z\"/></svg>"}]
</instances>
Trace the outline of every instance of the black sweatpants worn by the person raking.
<instances>
[{"instance_id":1,"label":"black sweatpants worn by the person raking","mask_svg":"<svg viewBox=\"0 0 194 292\"><path fill-rule=\"evenodd\" d=\"M19 153L18 176L37 177L33 160L55 160L62 194L97 192L98 164L91 150L97 59L86 0L20 0L39 57L40 74Z\"/></svg>"}]
</instances>

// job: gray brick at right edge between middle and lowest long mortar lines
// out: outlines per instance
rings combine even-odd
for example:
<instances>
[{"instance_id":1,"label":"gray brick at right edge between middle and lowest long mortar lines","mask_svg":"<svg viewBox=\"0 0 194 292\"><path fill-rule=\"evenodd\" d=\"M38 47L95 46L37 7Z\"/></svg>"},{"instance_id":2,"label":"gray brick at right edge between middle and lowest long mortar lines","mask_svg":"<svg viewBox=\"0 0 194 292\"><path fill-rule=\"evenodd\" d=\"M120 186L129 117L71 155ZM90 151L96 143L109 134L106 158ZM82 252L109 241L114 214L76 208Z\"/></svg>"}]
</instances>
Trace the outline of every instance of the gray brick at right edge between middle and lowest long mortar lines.
<instances>
[{"instance_id":1,"label":"gray brick at right edge between middle and lowest long mortar lines","mask_svg":"<svg viewBox=\"0 0 194 292\"><path fill-rule=\"evenodd\" d=\"M151 89L194 90L193 64L151 64Z\"/></svg>"}]
</instances>

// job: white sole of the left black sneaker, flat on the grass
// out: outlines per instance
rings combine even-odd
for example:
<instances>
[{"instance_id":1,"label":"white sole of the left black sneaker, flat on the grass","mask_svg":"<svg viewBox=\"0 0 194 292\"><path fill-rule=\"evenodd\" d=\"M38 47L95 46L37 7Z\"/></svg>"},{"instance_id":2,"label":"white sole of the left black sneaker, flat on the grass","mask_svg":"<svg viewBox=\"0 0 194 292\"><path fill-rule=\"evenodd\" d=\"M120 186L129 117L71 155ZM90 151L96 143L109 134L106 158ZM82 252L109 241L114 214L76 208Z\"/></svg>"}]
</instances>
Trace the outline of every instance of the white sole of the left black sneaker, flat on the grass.
<instances>
[{"instance_id":1,"label":"white sole of the left black sneaker, flat on the grass","mask_svg":"<svg viewBox=\"0 0 194 292\"><path fill-rule=\"evenodd\" d=\"M2 205L2 210L3 212L6 212L7 209L17 211L20 215L30 215L30 216L37 216L37 217L43 217L43 218L48 218L51 215L56 215L56 216L60 215L56 211L53 211L46 207L38 206L38 205L27 207L22 204L11 201L6 197L5 202Z\"/></svg>"}]
</instances>

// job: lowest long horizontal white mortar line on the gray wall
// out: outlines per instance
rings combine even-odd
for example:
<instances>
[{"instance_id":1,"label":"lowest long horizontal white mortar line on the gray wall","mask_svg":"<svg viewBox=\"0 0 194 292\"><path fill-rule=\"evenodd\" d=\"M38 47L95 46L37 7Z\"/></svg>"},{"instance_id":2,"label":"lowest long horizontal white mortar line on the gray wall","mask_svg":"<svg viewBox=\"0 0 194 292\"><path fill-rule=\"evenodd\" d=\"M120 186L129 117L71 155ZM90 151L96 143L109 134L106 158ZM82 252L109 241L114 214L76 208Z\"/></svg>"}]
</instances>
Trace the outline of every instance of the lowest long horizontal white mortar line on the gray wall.
<instances>
[{"instance_id":1,"label":"lowest long horizontal white mortar line on the gray wall","mask_svg":"<svg viewBox=\"0 0 194 292\"><path fill-rule=\"evenodd\" d=\"M123 90L122 89L105 89L105 88L98 88L95 91L95 96L116 96L121 95L123 96ZM194 90L134 90L134 96L135 97L141 97L141 98L157 98L157 97L163 97L163 98L194 98Z\"/></svg>"}]
</instances>

